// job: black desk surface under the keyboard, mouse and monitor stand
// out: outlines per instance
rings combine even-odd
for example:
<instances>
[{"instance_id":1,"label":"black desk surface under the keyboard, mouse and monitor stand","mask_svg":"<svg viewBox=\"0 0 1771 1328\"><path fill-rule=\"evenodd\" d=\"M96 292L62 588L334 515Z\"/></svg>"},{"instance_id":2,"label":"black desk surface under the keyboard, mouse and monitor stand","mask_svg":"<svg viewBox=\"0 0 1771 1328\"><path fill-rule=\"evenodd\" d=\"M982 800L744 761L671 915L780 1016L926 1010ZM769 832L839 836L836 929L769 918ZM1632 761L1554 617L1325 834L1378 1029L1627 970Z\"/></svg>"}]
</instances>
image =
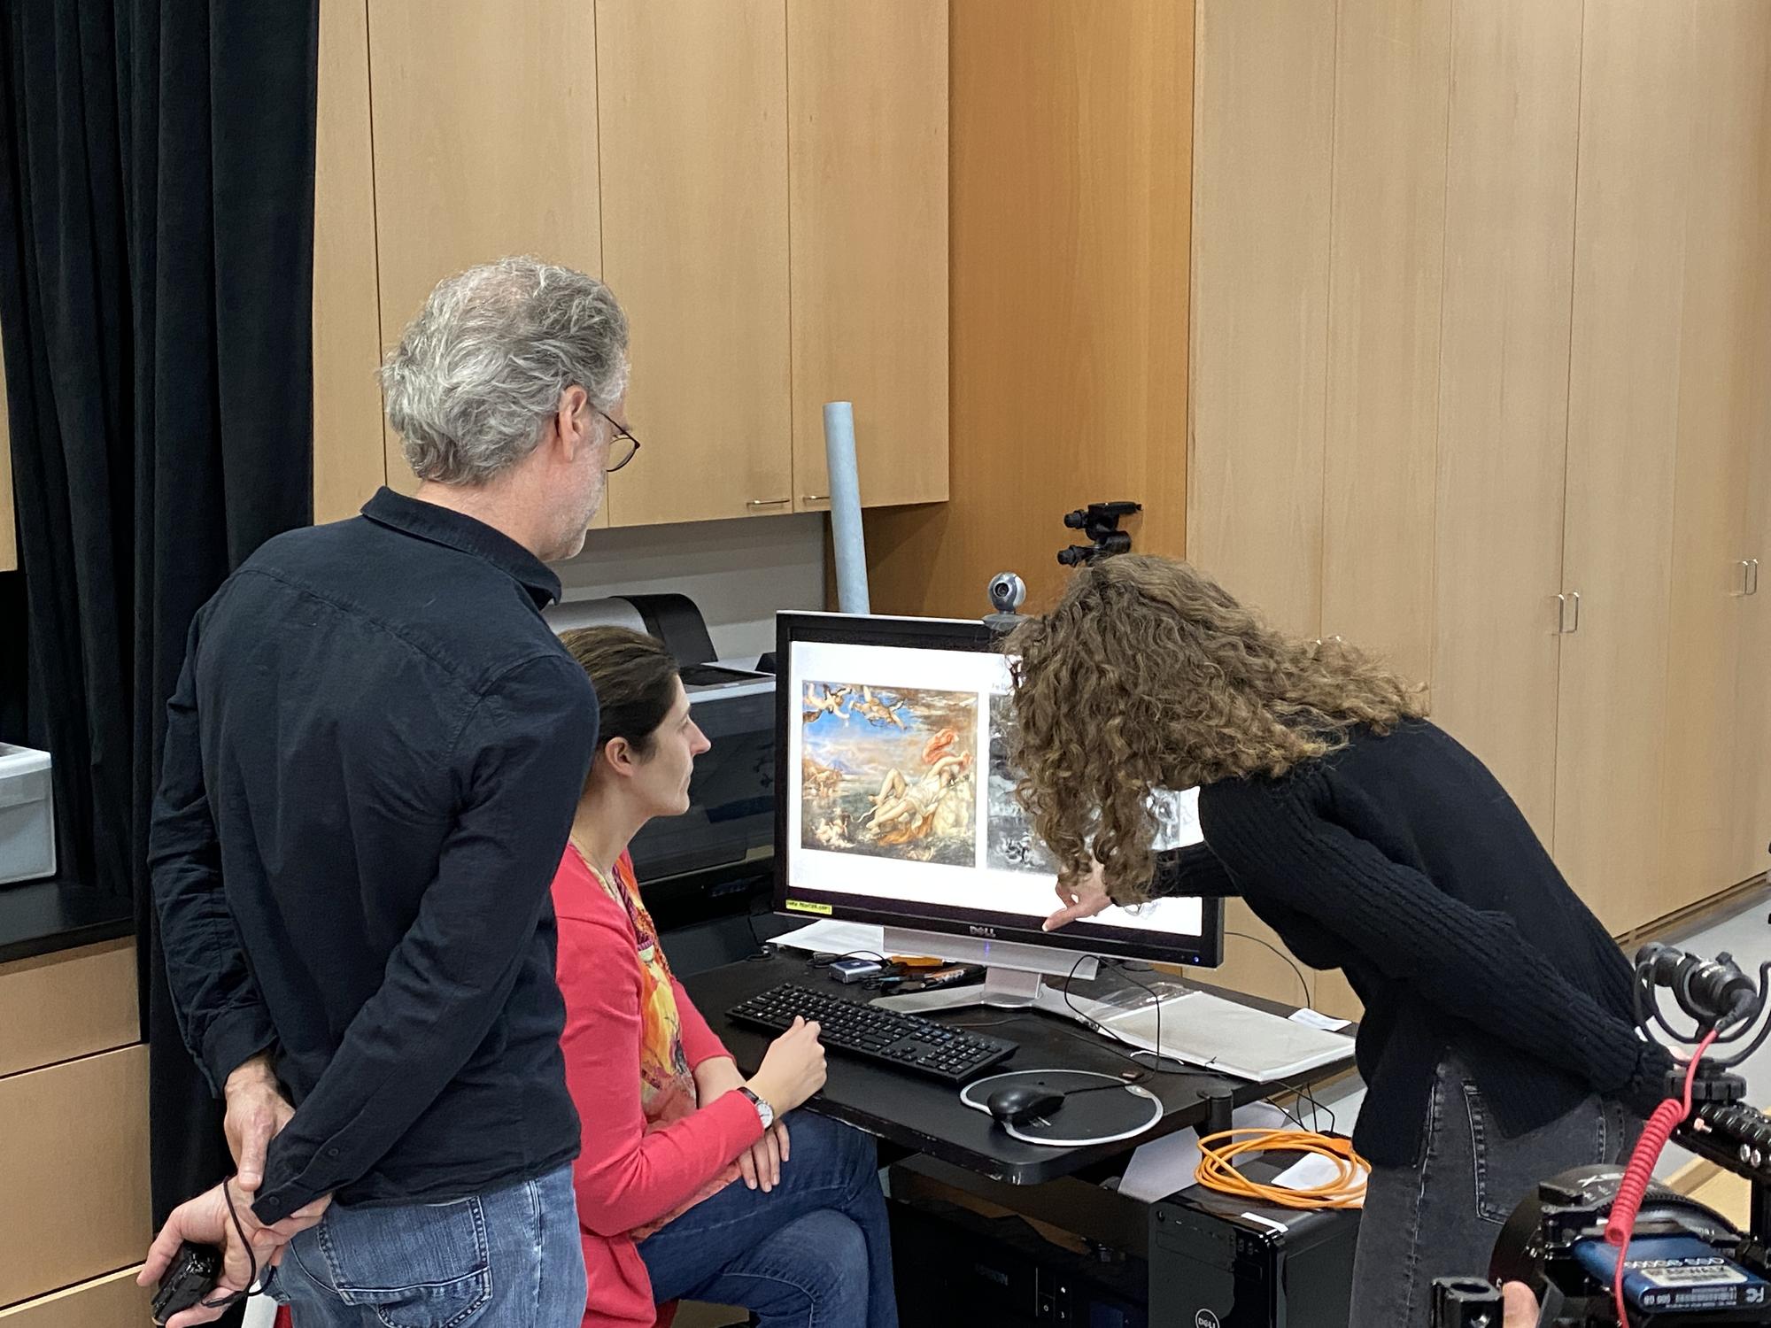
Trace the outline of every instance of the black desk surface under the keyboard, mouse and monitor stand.
<instances>
[{"instance_id":1,"label":"black desk surface under the keyboard, mouse and monitor stand","mask_svg":"<svg viewBox=\"0 0 1771 1328\"><path fill-rule=\"evenodd\" d=\"M726 1018L726 1011L740 1000L779 983L829 984L832 993L852 995L857 1000L866 1000L871 995L864 990L832 983L825 974L809 970L804 958L793 954L728 963L723 969L712 969L710 972L684 979L701 1015L707 1016L714 1032L721 1036L739 1059L739 1064L747 1071L754 1069L762 1061L770 1038L769 1034L731 1023ZM1279 1015L1289 1015L1293 1009L1291 1006L1257 1000L1234 992L1220 992L1220 995ZM1118 1075L1126 1068L1125 1057L1114 1052L1103 1038L1052 1015L974 1008L940 1015L939 1018L942 1023L974 1027L979 1032L1020 1043L1020 1050L1011 1059L992 1068L990 1073L1063 1068L1098 1069ZM1204 1091L1211 1085L1233 1085L1234 1100L1240 1107L1286 1089L1300 1087L1302 1084L1328 1078L1344 1069L1348 1062L1351 1062L1351 1043L1348 1045L1346 1062L1325 1066L1288 1084L1250 1084L1203 1069L1153 1075L1144 1087L1162 1100L1162 1121L1137 1139L1119 1144L1091 1144L1089 1147L1040 1147L1036 1144L1022 1144L997 1130L995 1123L983 1112L965 1107L960 1101L956 1087L933 1078L923 1078L921 1075L889 1069L873 1061L843 1055L836 1050L831 1052L829 1059L831 1077L824 1091L813 1101L806 1103L806 1110L845 1121L901 1147L965 1167L997 1181L1036 1185L1107 1162L1151 1139L1201 1124L1206 1119Z\"/></svg>"}]
</instances>

